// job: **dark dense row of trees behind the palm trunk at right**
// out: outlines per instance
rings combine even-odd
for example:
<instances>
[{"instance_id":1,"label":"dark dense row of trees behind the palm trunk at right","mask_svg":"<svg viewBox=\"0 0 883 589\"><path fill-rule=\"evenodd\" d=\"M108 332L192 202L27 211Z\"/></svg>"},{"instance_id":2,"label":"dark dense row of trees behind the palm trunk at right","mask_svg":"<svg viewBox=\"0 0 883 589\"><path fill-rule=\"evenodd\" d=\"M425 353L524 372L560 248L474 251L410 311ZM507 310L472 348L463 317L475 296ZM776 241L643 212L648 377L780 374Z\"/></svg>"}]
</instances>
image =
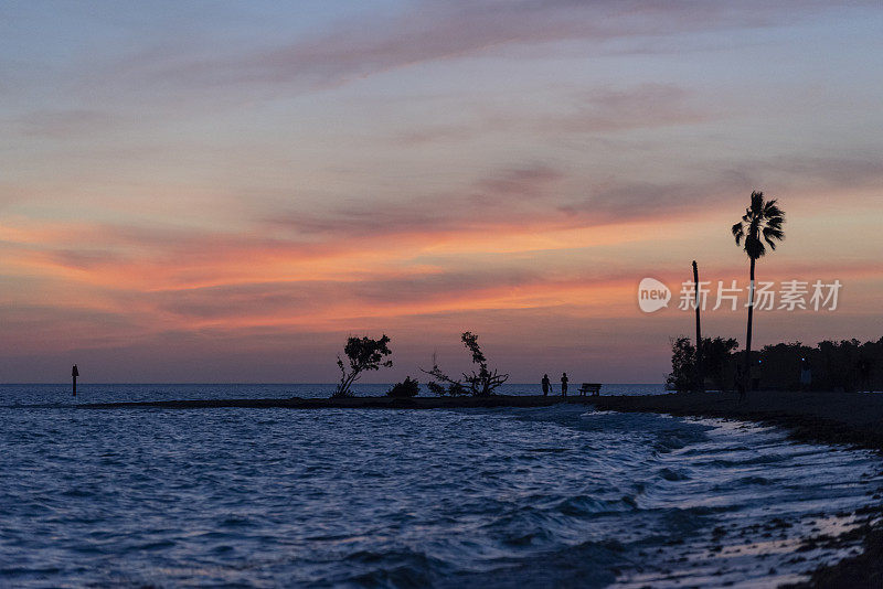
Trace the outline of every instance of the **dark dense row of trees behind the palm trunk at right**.
<instances>
[{"instance_id":1,"label":"dark dense row of trees behind the palm trunk at right","mask_svg":"<svg viewBox=\"0 0 883 589\"><path fill-rule=\"evenodd\" d=\"M734 390L737 366L744 352L736 352L733 339L703 338L704 384L709 389ZM672 390L699 390L695 346L685 336L671 342L671 374L666 386ZM883 390L883 338L823 341L815 347L801 342L766 345L751 353L752 388L779 390Z\"/></svg>"}]
</instances>

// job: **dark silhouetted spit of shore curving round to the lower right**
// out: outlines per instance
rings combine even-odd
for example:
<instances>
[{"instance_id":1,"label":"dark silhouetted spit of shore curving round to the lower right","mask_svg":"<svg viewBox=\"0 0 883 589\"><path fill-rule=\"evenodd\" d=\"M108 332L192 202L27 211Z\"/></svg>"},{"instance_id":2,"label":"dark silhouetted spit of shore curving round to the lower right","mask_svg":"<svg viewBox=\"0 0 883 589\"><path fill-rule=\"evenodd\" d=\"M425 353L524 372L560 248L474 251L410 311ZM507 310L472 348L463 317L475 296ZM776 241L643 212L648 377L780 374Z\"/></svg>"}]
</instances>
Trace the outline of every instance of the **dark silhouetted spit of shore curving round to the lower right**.
<instances>
[{"instance_id":1,"label":"dark silhouetted spit of shore curving round to the lower right","mask_svg":"<svg viewBox=\"0 0 883 589\"><path fill-rule=\"evenodd\" d=\"M801 442L847 445L883 456L883 395L861 393L752 392L740 403L733 393L672 393L651 396L493 396L493 397L391 397L204 399L131 401L76 405L83 409L116 408L291 408L291 409L453 409L500 407L551 407L561 403L594 406L598 410L656 413L679 417L711 417L753 421L780 427ZM861 536L862 553L833 565L808 571L809 579L791 585L809 587L883 586L883 525L874 514L883 513L881 495L869 497L864 523L847 535ZM813 542L838 538L806 538Z\"/></svg>"}]
</instances>

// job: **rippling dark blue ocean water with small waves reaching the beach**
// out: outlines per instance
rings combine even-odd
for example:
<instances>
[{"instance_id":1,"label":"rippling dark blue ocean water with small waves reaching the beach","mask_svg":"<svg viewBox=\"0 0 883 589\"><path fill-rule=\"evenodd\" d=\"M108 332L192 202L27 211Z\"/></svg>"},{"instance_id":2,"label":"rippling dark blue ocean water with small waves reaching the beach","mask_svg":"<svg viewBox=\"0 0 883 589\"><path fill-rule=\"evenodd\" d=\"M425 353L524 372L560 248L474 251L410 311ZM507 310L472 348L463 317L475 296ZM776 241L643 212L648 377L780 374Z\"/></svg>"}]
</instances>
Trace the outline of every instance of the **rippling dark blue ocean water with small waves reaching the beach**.
<instances>
[{"instance_id":1,"label":"rippling dark blue ocean water with small waves reaching the beach","mask_svg":"<svg viewBox=\"0 0 883 589\"><path fill-rule=\"evenodd\" d=\"M883 486L871 452L720 420L23 406L50 394L0 408L3 587L775 586L854 550L800 543Z\"/></svg>"}]
</instances>

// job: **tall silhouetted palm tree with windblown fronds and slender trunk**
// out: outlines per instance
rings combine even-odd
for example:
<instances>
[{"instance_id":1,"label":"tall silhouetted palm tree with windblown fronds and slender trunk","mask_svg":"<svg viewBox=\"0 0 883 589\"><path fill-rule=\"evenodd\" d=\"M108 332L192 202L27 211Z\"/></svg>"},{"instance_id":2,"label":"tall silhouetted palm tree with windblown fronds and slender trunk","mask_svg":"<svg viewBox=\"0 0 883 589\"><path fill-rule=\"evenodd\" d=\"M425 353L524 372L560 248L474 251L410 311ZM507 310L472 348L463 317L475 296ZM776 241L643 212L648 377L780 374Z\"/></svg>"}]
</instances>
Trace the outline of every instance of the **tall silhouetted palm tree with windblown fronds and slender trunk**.
<instances>
[{"instance_id":1,"label":"tall silhouetted palm tree with windblown fronds and slender trunk","mask_svg":"<svg viewBox=\"0 0 883 589\"><path fill-rule=\"evenodd\" d=\"M748 332L745 336L745 367L742 373L745 389L749 382L752 355L752 322L754 321L754 266L757 258L766 254L766 248L776 249L776 242L785 239L781 226L785 224L785 213L776 204L776 199L767 201L763 192L752 192L752 205L745 210L742 221L733 225L733 237L736 245L742 246L751 266L751 287L748 290Z\"/></svg>"}]
</instances>

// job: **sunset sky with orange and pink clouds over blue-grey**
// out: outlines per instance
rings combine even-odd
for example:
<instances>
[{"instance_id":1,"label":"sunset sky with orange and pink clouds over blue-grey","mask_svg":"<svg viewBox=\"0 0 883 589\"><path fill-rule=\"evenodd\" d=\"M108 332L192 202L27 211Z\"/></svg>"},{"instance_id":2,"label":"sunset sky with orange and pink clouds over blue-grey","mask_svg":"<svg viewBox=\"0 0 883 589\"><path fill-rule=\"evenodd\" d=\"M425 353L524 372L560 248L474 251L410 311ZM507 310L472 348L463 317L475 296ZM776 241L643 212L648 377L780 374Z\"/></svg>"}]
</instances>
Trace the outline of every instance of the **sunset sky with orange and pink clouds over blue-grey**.
<instances>
[{"instance_id":1,"label":"sunset sky with orange and pink clouds over blue-grey","mask_svg":"<svg viewBox=\"0 0 883 589\"><path fill-rule=\"evenodd\" d=\"M880 0L3 2L0 382L332 382L384 332L392 382L470 330L511 382L660 383L752 190L758 279L843 283L755 345L876 340L881 55Z\"/></svg>"}]
</instances>

